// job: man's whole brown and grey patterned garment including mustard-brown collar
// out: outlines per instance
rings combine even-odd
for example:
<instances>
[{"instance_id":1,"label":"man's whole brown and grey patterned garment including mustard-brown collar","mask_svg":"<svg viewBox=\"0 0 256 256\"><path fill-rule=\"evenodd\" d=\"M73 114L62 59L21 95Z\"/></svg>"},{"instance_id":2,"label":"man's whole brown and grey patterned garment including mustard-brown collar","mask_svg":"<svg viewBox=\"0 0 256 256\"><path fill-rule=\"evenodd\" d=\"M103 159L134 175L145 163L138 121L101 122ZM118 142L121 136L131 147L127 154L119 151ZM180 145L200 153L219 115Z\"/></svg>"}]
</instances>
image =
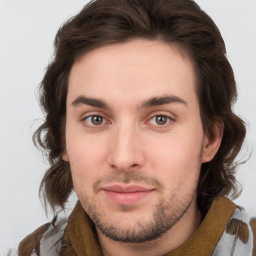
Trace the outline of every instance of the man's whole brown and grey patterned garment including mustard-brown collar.
<instances>
[{"instance_id":1,"label":"man's whole brown and grey patterned garment including mustard-brown collar","mask_svg":"<svg viewBox=\"0 0 256 256\"><path fill-rule=\"evenodd\" d=\"M255 253L256 219L226 197L213 200L195 232L165 256L249 256ZM254 244L254 249L253 249ZM78 201L68 218L56 216L19 244L19 256L100 256L95 227Z\"/></svg>"}]
</instances>

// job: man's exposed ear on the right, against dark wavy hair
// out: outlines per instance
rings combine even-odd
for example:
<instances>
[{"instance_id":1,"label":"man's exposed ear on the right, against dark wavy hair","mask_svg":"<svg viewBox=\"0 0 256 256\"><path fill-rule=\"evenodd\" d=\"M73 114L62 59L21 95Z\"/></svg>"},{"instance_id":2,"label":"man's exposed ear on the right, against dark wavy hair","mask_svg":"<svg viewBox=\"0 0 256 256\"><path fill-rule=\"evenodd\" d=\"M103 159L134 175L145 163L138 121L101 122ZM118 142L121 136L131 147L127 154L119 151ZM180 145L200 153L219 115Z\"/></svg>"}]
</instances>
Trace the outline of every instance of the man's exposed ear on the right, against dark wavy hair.
<instances>
[{"instance_id":1,"label":"man's exposed ear on the right, against dark wavy hair","mask_svg":"<svg viewBox=\"0 0 256 256\"><path fill-rule=\"evenodd\" d=\"M209 134L204 134L202 148L202 162L210 161L216 154L223 136L223 122L215 121Z\"/></svg>"}]
</instances>

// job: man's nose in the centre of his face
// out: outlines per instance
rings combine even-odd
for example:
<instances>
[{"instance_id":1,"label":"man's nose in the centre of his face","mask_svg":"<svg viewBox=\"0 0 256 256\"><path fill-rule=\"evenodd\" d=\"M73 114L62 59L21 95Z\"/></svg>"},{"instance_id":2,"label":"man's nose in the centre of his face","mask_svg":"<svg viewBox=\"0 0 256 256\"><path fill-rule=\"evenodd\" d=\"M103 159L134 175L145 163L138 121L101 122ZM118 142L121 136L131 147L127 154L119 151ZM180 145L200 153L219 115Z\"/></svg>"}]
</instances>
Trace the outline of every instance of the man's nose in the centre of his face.
<instances>
[{"instance_id":1,"label":"man's nose in the centre of his face","mask_svg":"<svg viewBox=\"0 0 256 256\"><path fill-rule=\"evenodd\" d=\"M110 137L108 164L119 171L141 168L145 162L141 134L133 125L120 125Z\"/></svg>"}]
</instances>

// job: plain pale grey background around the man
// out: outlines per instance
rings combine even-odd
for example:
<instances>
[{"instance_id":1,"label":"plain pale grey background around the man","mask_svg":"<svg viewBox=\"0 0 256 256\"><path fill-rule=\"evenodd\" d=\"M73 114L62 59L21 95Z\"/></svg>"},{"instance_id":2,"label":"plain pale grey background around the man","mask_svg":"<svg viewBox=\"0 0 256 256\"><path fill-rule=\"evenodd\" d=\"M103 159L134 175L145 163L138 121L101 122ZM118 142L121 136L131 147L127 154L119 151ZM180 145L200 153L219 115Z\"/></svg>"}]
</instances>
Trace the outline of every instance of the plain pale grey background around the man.
<instances>
[{"instance_id":1,"label":"plain pale grey background around the man","mask_svg":"<svg viewBox=\"0 0 256 256\"><path fill-rule=\"evenodd\" d=\"M48 221L38 199L48 165L31 141L42 118L36 86L59 25L86 2L0 0L0 255ZM243 153L252 150L237 172L243 192L235 202L256 215L256 0L196 2L219 27L235 73L239 97L234 109L249 124Z\"/></svg>"}]
</instances>

